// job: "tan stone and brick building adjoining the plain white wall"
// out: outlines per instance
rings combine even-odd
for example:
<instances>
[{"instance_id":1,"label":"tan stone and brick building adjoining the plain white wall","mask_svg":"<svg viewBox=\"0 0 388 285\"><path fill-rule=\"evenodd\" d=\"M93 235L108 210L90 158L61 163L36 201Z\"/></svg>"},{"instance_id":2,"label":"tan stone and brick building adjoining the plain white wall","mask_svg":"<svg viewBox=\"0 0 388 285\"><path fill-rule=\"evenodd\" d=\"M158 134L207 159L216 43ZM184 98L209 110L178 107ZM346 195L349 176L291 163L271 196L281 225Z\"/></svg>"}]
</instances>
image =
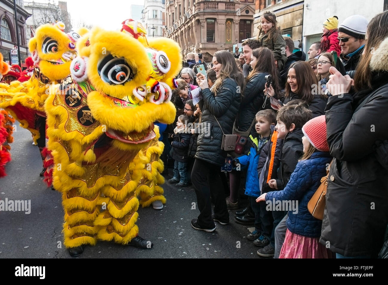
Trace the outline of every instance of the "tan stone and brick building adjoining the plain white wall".
<instances>
[{"instance_id":1,"label":"tan stone and brick building adjoining the plain white wall","mask_svg":"<svg viewBox=\"0 0 388 285\"><path fill-rule=\"evenodd\" d=\"M315 1L318 2L318 0ZM295 48L298 49L302 42L304 2L304 0L256 0L253 35L258 34L260 19L264 12L270 11L276 15L277 25L282 35L292 38Z\"/></svg>"}]
</instances>

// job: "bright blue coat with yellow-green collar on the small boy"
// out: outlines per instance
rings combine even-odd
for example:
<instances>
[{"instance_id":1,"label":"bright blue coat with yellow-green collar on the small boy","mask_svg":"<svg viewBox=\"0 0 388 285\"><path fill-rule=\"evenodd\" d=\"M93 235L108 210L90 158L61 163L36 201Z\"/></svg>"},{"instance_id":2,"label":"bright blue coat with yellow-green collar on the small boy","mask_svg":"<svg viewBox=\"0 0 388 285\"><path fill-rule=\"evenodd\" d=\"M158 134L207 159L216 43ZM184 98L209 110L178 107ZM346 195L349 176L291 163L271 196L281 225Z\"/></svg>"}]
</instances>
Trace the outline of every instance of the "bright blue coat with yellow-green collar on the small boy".
<instances>
[{"instance_id":1,"label":"bright blue coat with yellow-green collar on the small boy","mask_svg":"<svg viewBox=\"0 0 388 285\"><path fill-rule=\"evenodd\" d=\"M248 166L246 173L245 195L256 198L260 196L257 164L259 163L260 152L262 151L262 148L265 146L265 144L268 142L269 138L270 137L268 136L259 139L258 135L256 138L253 138L253 136L250 135L248 143L251 143L252 146L249 150L248 155L242 155L235 159L236 163L239 163L241 166Z\"/></svg>"}]
</instances>

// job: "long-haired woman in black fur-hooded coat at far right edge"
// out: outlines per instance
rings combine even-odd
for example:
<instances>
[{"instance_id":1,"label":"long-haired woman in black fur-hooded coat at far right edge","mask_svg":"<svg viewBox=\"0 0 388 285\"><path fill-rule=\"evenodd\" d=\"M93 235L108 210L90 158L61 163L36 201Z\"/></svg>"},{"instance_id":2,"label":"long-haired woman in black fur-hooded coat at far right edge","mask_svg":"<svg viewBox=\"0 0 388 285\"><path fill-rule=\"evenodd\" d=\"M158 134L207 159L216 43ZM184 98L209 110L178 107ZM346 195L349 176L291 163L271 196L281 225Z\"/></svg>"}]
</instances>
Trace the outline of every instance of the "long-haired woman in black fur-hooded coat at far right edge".
<instances>
[{"instance_id":1,"label":"long-haired woman in black fur-hooded coat at far right edge","mask_svg":"<svg viewBox=\"0 0 388 285\"><path fill-rule=\"evenodd\" d=\"M330 67L329 172L320 243L337 258L375 258L388 223L388 11L368 24L354 78Z\"/></svg>"}]
</instances>

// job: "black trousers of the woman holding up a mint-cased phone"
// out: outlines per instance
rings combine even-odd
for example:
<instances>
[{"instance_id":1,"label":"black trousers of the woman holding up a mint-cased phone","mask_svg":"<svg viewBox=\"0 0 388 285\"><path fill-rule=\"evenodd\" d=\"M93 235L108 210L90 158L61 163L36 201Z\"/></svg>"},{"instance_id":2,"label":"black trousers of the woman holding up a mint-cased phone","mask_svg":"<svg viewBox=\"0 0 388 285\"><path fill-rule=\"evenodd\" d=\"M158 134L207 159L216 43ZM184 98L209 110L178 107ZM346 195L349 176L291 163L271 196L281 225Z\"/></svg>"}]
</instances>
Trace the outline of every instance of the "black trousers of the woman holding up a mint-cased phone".
<instances>
[{"instance_id":1,"label":"black trousers of the woman holding up a mint-cased phone","mask_svg":"<svg viewBox=\"0 0 388 285\"><path fill-rule=\"evenodd\" d=\"M211 218L212 200L215 218L229 223L229 213L220 178L220 166L196 158L191 172L191 183L194 186L198 209L201 212L197 220L198 225L204 228L214 228L214 221Z\"/></svg>"}]
</instances>

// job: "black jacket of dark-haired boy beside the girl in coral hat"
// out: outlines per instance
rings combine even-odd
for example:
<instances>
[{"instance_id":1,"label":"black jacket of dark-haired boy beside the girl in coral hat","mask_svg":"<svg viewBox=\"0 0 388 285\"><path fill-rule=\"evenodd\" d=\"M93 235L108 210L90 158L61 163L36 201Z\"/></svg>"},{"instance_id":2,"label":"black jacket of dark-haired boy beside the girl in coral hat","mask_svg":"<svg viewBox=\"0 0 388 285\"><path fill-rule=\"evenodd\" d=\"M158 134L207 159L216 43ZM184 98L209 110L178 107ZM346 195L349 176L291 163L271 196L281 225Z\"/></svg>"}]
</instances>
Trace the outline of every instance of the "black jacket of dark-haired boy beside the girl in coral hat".
<instances>
[{"instance_id":1,"label":"black jacket of dark-haired boy beside the girl in coral hat","mask_svg":"<svg viewBox=\"0 0 388 285\"><path fill-rule=\"evenodd\" d=\"M303 153L302 143L303 131L301 128L295 128L292 133L288 133L283 140L283 146L280 153L279 174L276 179L278 190L284 189L291 174L294 172L296 164Z\"/></svg>"}]
</instances>

